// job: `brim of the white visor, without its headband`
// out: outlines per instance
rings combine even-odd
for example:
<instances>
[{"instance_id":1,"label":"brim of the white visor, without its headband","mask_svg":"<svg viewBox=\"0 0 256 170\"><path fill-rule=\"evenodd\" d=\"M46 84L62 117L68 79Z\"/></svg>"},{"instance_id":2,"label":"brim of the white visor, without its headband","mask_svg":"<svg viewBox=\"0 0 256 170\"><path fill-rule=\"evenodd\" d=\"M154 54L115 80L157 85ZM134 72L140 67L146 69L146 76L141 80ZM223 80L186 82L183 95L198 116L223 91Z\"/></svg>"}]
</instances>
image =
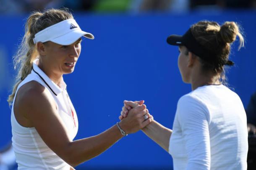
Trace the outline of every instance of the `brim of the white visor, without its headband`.
<instances>
[{"instance_id":1,"label":"brim of the white visor, without its headband","mask_svg":"<svg viewBox=\"0 0 256 170\"><path fill-rule=\"evenodd\" d=\"M70 44L73 44L74 42L76 42L79 38L81 38L82 36L89 38L89 39L94 39L94 36L91 33L87 33L85 31L82 30L74 30L70 33L67 33L63 36L54 38L50 41L63 45L63 46L68 46Z\"/></svg>"}]
</instances>

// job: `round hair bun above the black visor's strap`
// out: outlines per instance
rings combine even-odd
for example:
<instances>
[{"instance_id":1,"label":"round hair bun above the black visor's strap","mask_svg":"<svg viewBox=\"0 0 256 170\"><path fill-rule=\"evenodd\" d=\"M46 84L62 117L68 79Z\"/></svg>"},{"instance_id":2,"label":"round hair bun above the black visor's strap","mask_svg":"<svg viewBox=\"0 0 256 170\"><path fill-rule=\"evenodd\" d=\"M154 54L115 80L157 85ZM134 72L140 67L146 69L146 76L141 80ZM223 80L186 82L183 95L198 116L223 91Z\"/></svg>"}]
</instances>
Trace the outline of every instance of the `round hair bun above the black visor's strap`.
<instances>
[{"instance_id":1,"label":"round hair bun above the black visor's strap","mask_svg":"<svg viewBox=\"0 0 256 170\"><path fill-rule=\"evenodd\" d=\"M219 30L219 38L224 43L232 43L235 41L239 33L238 25L235 22L226 21Z\"/></svg>"}]
</instances>

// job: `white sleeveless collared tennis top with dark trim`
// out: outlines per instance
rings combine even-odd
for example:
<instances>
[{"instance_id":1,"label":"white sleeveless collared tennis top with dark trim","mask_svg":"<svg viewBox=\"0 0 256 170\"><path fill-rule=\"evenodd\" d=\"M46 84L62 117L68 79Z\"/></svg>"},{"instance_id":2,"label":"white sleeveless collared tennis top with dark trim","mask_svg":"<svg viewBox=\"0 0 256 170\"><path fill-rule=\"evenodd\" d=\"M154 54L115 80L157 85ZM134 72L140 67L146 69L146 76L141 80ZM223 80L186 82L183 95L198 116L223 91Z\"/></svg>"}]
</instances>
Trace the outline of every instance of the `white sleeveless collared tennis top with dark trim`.
<instances>
[{"instance_id":1,"label":"white sleeveless collared tennis top with dark trim","mask_svg":"<svg viewBox=\"0 0 256 170\"><path fill-rule=\"evenodd\" d=\"M61 88L57 86L44 72L37 66L39 59L33 62L33 70L22 82L18 89L29 81L37 81L46 87L52 94L57 105L57 112L65 124L68 137L73 140L78 131L78 119L76 111L66 91L66 84L61 83ZM17 94L16 91L16 94ZM12 142L13 149L18 163L18 170L70 170L64 160L56 155L42 140L34 127L21 126L14 115L13 106L16 98L13 99L11 111ZM56 144L57 145L57 144ZM63 148L65 149L65 148Z\"/></svg>"}]
</instances>

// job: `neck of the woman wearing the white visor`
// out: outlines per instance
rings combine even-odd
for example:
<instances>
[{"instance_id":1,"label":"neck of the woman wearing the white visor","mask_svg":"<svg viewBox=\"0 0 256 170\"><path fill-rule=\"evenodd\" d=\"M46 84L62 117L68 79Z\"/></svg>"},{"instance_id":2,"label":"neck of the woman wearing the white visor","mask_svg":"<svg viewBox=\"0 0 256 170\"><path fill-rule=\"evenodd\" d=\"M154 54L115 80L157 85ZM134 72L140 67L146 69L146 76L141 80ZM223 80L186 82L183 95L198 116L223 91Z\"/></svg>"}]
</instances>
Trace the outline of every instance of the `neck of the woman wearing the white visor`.
<instances>
[{"instance_id":1,"label":"neck of the woman wearing the white visor","mask_svg":"<svg viewBox=\"0 0 256 170\"><path fill-rule=\"evenodd\" d=\"M42 61L39 59L38 67L55 83L60 87L60 83L63 80L62 74L56 74L51 68L45 67Z\"/></svg>"}]
</instances>

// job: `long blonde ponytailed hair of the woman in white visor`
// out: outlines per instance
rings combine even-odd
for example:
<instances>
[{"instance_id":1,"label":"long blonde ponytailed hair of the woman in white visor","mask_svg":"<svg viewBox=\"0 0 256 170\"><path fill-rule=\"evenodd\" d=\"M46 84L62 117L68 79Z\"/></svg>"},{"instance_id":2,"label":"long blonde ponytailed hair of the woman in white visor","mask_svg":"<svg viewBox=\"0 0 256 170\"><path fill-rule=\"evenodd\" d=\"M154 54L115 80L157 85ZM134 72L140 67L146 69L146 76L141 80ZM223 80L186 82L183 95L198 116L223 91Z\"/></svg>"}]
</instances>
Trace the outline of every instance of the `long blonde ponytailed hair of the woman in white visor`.
<instances>
[{"instance_id":1,"label":"long blonde ponytailed hair of the woman in white visor","mask_svg":"<svg viewBox=\"0 0 256 170\"><path fill-rule=\"evenodd\" d=\"M13 56L14 69L18 68L18 75L16 76L12 94L9 95L7 100L9 105L13 103L18 85L31 73L32 63L38 56L36 45L33 41L35 34L67 19L73 19L73 15L67 8L49 9L43 13L35 11L29 15L25 25L25 35L22 38L16 55Z\"/></svg>"}]
</instances>

